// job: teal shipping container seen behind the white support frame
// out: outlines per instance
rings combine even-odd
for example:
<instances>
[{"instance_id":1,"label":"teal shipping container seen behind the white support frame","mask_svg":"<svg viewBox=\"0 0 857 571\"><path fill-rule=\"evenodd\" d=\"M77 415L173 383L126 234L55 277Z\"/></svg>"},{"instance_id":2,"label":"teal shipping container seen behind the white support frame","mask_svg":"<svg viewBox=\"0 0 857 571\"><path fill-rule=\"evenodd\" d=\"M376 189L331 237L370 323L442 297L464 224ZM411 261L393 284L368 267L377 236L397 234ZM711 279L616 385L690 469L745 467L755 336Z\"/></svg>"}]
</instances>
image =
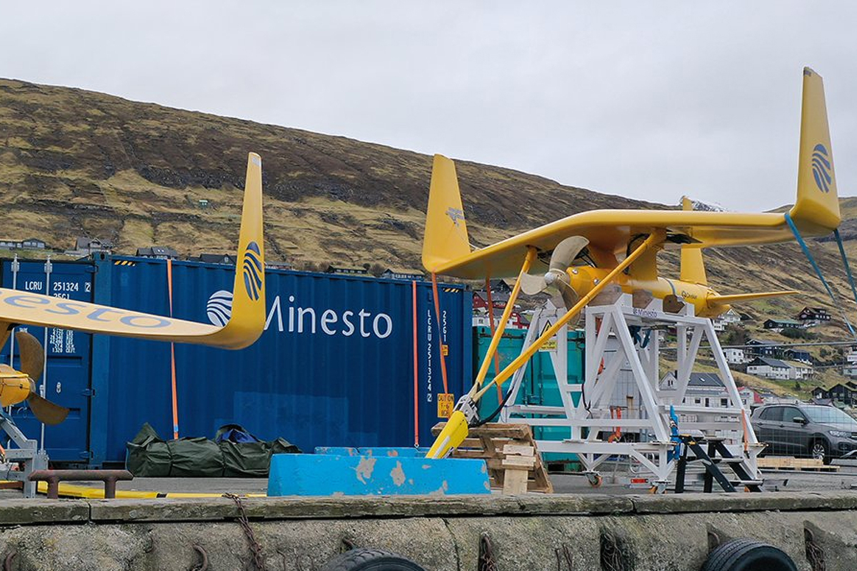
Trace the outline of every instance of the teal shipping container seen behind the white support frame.
<instances>
[{"instance_id":1,"label":"teal shipping container seen behind the white support frame","mask_svg":"<svg viewBox=\"0 0 857 571\"><path fill-rule=\"evenodd\" d=\"M500 360L500 371L512 362L524 347L524 338L527 335L526 330L506 330L503 337L500 339L500 346L497 348L497 356ZM479 367L482 365L482 360L485 354L488 353L488 345L491 343L491 330L488 327L478 326L473 328L473 370L474 377ZM569 331L568 343L566 345L568 351L568 382L571 384L582 383L584 379L584 332ZM494 365L488 369L487 378L490 379L494 375ZM511 380L503 384L503 392L509 388ZM572 398L575 404L580 398L579 393L572 393ZM485 396L479 401L479 416L485 418L497 409L499 402L497 391L494 389L488 390ZM526 371L524 372L524 380L521 383L521 390L518 391L518 398L515 404L530 404L543 405L548 407L561 407L562 399L560 398L560 389L556 384L556 376L554 375L554 366L550 361L550 352L538 351L527 363ZM519 418L534 418L538 415L520 414L514 415ZM571 429L562 426L533 426L533 437L536 440L562 440L571 437ZM543 455L545 461L576 461L577 455L546 453Z\"/></svg>"}]
</instances>

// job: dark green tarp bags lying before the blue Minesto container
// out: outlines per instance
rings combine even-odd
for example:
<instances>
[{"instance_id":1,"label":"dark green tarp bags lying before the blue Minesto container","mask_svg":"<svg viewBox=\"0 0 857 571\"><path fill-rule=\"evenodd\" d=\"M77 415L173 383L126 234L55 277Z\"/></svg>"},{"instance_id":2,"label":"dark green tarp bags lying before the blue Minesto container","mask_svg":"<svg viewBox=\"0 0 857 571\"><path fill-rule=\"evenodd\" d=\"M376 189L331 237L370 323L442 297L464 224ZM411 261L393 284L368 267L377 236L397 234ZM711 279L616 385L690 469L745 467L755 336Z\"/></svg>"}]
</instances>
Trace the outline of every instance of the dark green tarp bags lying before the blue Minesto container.
<instances>
[{"instance_id":1,"label":"dark green tarp bags lying before the blue Minesto container","mask_svg":"<svg viewBox=\"0 0 857 571\"><path fill-rule=\"evenodd\" d=\"M127 443L130 473L139 477L266 478L272 454L299 454L283 438L265 442L240 425L223 425L214 442L185 437L165 442L151 425L144 424Z\"/></svg>"}]
</instances>

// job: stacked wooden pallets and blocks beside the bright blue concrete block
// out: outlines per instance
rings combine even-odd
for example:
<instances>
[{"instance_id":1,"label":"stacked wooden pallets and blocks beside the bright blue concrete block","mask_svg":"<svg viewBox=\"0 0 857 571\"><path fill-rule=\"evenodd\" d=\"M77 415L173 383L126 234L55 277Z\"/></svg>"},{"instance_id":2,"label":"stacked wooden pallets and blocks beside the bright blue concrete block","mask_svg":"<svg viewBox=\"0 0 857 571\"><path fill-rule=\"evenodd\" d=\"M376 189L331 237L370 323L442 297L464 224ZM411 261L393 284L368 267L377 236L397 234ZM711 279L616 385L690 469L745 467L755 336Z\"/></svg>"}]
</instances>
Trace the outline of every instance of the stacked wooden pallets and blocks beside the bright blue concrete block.
<instances>
[{"instance_id":1,"label":"stacked wooden pallets and blocks beside the bright blue concrete block","mask_svg":"<svg viewBox=\"0 0 857 571\"><path fill-rule=\"evenodd\" d=\"M443 430L445 422L440 422L431 429L437 436ZM523 447L523 448L522 448ZM527 454L527 448L530 454ZM488 476L491 487L505 490L505 493L519 493L518 484L506 484L506 472L511 479L520 481L522 477L516 472L526 468L526 490L546 494L554 493L554 485L548 478L548 470L542 461L533 440L532 429L529 425L488 423L487 425L470 428L468 437L458 449L452 452L452 458L478 458L488 465ZM532 458L530 461L528 458Z\"/></svg>"}]
</instances>

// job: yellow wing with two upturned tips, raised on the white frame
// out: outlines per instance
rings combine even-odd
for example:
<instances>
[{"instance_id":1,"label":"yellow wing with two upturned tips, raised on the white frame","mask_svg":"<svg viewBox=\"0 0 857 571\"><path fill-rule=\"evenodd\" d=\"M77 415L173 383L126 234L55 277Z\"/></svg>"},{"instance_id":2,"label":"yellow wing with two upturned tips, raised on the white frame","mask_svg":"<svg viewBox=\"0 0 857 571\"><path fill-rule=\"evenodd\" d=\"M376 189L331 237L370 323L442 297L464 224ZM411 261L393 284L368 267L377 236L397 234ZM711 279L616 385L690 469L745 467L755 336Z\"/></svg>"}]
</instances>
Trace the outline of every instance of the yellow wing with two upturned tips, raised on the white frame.
<instances>
[{"instance_id":1,"label":"yellow wing with two upturned tips, raised on the white frame","mask_svg":"<svg viewBox=\"0 0 857 571\"><path fill-rule=\"evenodd\" d=\"M840 222L839 200L821 77L804 69L801 112L800 168L797 200L790 211L805 235L824 235ZM668 242L695 247L740 246L788 241L793 235L783 213L738 214L734 212L600 210L581 212L548 223L492 246L460 255L467 241L460 212L458 184L452 187L452 161L436 155L429 196L423 265L428 271L456 277L511 277L518 274L527 247L542 252L572 235L581 235L590 246L605 253L624 255L636 235L662 229ZM454 243L455 248L448 245ZM450 255L450 252L459 255Z\"/></svg>"}]
</instances>

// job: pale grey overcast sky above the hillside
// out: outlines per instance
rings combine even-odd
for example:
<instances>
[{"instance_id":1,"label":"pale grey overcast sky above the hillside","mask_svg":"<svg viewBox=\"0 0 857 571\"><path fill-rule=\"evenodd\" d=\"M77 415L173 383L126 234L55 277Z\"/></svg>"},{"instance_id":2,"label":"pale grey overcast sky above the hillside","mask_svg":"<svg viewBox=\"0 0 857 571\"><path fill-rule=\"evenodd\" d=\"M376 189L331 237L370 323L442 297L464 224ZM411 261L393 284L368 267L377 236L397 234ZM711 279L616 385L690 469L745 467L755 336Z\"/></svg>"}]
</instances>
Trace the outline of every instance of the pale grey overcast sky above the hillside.
<instances>
[{"instance_id":1,"label":"pale grey overcast sky above the hillside","mask_svg":"<svg viewBox=\"0 0 857 571\"><path fill-rule=\"evenodd\" d=\"M804 65L857 193L855 22L848 1L6 0L0 77L760 211L794 201Z\"/></svg>"}]
</instances>

